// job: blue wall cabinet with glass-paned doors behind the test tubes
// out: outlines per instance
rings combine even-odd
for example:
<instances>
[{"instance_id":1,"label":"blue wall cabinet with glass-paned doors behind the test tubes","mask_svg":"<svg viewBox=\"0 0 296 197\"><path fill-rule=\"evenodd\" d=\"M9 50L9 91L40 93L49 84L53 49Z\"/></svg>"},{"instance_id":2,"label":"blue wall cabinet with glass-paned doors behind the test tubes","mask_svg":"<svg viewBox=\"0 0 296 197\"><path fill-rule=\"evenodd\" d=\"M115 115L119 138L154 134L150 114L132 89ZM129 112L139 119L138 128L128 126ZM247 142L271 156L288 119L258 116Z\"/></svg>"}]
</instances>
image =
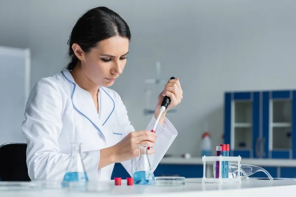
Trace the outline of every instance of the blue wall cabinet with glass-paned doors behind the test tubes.
<instances>
[{"instance_id":1,"label":"blue wall cabinet with glass-paned doors behind the test tubes","mask_svg":"<svg viewBox=\"0 0 296 197\"><path fill-rule=\"evenodd\" d=\"M226 92L224 141L242 158L296 159L296 91Z\"/></svg>"}]
</instances>

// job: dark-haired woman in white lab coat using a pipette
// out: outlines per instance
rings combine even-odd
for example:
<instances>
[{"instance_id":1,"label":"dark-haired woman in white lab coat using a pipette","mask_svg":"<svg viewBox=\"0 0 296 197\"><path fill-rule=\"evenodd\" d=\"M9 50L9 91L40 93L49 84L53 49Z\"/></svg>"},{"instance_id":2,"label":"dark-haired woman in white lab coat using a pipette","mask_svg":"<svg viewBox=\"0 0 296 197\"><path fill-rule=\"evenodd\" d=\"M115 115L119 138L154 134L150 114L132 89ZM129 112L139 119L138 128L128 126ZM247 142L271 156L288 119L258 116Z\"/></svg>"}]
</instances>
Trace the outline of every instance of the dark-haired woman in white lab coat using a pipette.
<instances>
[{"instance_id":1,"label":"dark-haired woman in white lab coat using a pipette","mask_svg":"<svg viewBox=\"0 0 296 197\"><path fill-rule=\"evenodd\" d=\"M68 68L40 79L26 105L22 131L32 180L63 180L73 142L81 143L89 180L110 180L114 163L132 175L138 145L151 147L148 154L155 170L177 136L165 113L181 102L183 91L178 78L169 80L146 130L135 131L120 96L107 88L123 71L130 39L126 22L106 7L78 19L69 39ZM164 96L171 103L156 133L150 132Z\"/></svg>"}]
</instances>

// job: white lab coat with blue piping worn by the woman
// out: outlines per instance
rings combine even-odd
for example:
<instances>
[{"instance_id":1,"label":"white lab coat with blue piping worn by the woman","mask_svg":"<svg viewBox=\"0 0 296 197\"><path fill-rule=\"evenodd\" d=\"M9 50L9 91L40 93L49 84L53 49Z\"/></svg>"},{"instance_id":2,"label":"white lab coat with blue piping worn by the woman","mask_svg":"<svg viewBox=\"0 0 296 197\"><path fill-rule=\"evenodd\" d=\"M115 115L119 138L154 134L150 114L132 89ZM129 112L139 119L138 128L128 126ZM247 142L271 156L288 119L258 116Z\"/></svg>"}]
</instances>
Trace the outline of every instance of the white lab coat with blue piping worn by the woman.
<instances>
[{"instance_id":1,"label":"white lab coat with blue piping worn by the woman","mask_svg":"<svg viewBox=\"0 0 296 197\"><path fill-rule=\"evenodd\" d=\"M114 164L98 169L100 149L113 146L129 132L135 131L120 96L101 87L99 114L89 92L80 88L67 69L42 78L34 86L22 125L27 146L27 165L31 180L61 181L71 154L71 143L81 143L82 159L89 180L110 180ZM155 123L154 115L146 129ZM158 124L156 153L149 156L154 171L177 136L165 118ZM121 164L132 175L131 161ZM125 178L125 177L123 177Z\"/></svg>"}]
</instances>

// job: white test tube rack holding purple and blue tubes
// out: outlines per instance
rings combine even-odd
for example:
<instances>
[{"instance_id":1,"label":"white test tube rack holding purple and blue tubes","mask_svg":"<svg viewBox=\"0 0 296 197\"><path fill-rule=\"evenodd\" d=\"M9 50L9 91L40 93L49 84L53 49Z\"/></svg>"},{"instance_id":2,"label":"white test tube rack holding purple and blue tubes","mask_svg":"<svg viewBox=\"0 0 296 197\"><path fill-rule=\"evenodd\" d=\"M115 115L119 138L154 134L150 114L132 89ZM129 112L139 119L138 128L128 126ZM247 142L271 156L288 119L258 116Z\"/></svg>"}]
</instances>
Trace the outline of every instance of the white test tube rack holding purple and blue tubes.
<instances>
[{"instance_id":1,"label":"white test tube rack holding purple and blue tubes","mask_svg":"<svg viewBox=\"0 0 296 197\"><path fill-rule=\"evenodd\" d=\"M203 161L203 177L202 183L241 183L241 168L240 162L242 158L238 157L223 157L223 156L212 156L212 157L202 157ZM206 162L218 162L219 161L219 178L206 178ZM236 178L222 178L222 161L237 162L238 174ZM215 175L214 175L215 176Z\"/></svg>"}]
</instances>

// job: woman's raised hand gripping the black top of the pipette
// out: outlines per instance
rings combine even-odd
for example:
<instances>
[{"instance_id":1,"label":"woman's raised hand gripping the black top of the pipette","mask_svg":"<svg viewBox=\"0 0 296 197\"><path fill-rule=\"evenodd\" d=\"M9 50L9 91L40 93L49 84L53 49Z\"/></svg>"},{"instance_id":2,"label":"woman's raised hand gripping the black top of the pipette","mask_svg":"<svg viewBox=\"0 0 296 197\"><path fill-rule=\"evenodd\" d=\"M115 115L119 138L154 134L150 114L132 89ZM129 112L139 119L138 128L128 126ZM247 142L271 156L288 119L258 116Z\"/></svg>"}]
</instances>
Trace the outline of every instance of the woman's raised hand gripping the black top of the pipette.
<instances>
[{"instance_id":1,"label":"woman's raised hand gripping the black top of the pipette","mask_svg":"<svg viewBox=\"0 0 296 197\"><path fill-rule=\"evenodd\" d=\"M169 104L169 106L167 107L167 109L164 111L164 115L165 113L172 109L173 107L177 106L181 100L183 99L183 91L181 88L181 84L178 78L176 79L170 79L168 81L167 84L165 84L164 86L164 90L163 92L161 92L158 96L158 100L157 100L157 105L155 108L155 117L157 118L158 114L159 114L159 110L160 110L160 105L162 103L162 100L164 99L164 97L167 96L171 99L171 102Z\"/></svg>"}]
</instances>

